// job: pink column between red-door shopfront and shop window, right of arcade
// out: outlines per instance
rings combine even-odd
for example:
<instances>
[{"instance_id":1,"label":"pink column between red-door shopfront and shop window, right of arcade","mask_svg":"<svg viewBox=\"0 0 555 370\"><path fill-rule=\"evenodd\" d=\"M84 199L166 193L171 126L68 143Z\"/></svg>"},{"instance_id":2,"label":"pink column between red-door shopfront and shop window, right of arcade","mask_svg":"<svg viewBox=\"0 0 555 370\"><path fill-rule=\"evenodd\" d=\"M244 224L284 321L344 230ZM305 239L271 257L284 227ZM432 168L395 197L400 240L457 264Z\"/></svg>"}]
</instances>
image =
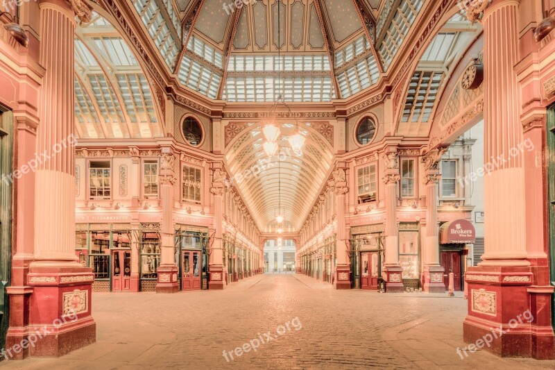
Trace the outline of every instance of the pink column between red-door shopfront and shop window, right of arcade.
<instances>
[{"instance_id":1,"label":"pink column between red-door shopfront and shop window, right of arcade","mask_svg":"<svg viewBox=\"0 0 555 370\"><path fill-rule=\"evenodd\" d=\"M399 236L397 224L397 184L399 175L399 161L396 149L384 155L385 172L382 181L386 188L386 224L385 224L385 276L386 292L402 293L402 267L399 264Z\"/></svg>"}]
</instances>

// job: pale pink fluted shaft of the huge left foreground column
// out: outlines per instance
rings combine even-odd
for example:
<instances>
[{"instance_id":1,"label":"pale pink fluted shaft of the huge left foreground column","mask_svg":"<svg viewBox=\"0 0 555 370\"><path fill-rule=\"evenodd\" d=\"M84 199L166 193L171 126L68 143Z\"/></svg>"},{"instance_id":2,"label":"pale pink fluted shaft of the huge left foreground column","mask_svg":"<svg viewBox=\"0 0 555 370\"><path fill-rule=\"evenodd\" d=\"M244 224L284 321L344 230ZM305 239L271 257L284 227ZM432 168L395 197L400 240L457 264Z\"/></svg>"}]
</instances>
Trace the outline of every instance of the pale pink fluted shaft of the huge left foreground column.
<instances>
[{"instance_id":1,"label":"pale pink fluted shaft of the huge left foreground column","mask_svg":"<svg viewBox=\"0 0 555 370\"><path fill-rule=\"evenodd\" d=\"M35 173L35 262L32 267L78 267L75 255L74 31L69 3L40 3L40 90ZM48 159L49 158L49 159Z\"/></svg>"}]
</instances>

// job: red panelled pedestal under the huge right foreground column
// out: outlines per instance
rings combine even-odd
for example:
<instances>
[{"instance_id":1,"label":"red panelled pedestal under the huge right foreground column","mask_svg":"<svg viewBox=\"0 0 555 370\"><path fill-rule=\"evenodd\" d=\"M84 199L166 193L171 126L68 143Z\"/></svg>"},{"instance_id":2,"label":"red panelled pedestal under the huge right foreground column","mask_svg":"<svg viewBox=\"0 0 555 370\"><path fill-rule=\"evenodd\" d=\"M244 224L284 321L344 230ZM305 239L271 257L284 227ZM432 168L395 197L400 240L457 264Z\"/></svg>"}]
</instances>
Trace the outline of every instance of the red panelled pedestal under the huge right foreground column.
<instances>
[{"instance_id":1,"label":"red panelled pedestal under the huge right foreground column","mask_svg":"<svg viewBox=\"0 0 555 370\"><path fill-rule=\"evenodd\" d=\"M532 285L529 267L470 267L465 280L468 316L463 339L469 346L501 357L555 358L550 303L554 287Z\"/></svg>"}]
</instances>

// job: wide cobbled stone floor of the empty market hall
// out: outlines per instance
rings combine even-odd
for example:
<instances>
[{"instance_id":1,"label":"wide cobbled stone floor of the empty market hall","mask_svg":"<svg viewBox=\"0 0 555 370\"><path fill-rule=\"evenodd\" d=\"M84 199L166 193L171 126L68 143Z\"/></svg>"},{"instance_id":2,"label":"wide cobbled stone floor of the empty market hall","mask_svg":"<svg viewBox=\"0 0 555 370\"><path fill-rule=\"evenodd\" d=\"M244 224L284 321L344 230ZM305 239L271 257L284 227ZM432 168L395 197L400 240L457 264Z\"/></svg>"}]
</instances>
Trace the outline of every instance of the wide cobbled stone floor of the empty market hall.
<instances>
[{"instance_id":1,"label":"wide cobbled stone floor of the empty market hall","mask_svg":"<svg viewBox=\"0 0 555 370\"><path fill-rule=\"evenodd\" d=\"M224 291L96 293L96 344L58 359L4 361L0 367L555 369L555 361L502 359L485 351L461 359L456 348L466 346L466 303L443 294L338 291L293 274L259 275ZM275 338L262 344L268 331ZM233 360L227 353L226 361L223 351L251 341L259 342L256 352L249 344L248 352L233 353Z\"/></svg>"}]
</instances>

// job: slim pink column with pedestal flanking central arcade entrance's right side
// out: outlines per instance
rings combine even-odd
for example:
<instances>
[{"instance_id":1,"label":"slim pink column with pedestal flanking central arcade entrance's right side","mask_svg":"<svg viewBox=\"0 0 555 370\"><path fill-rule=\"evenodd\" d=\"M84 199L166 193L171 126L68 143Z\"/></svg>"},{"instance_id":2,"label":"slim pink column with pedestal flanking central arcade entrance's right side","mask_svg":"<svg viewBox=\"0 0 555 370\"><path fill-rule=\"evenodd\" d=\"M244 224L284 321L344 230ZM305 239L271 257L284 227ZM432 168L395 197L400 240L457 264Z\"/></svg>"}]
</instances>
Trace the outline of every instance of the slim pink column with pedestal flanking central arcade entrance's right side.
<instances>
[{"instance_id":1,"label":"slim pink column with pedestal flanking central arcade entrance's right side","mask_svg":"<svg viewBox=\"0 0 555 370\"><path fill-rule=\"evenodd\" d=\"M338 162L337 169L333 173L330 185L335 189L336 205L336 233L337 233L337 278L336 289L351 289L350 261L347 247L347 236L345 235L345 194L349 191L345 179L345 162ZM316 269L313 269L316 271Z\"/></svg>"}]
</instances>

